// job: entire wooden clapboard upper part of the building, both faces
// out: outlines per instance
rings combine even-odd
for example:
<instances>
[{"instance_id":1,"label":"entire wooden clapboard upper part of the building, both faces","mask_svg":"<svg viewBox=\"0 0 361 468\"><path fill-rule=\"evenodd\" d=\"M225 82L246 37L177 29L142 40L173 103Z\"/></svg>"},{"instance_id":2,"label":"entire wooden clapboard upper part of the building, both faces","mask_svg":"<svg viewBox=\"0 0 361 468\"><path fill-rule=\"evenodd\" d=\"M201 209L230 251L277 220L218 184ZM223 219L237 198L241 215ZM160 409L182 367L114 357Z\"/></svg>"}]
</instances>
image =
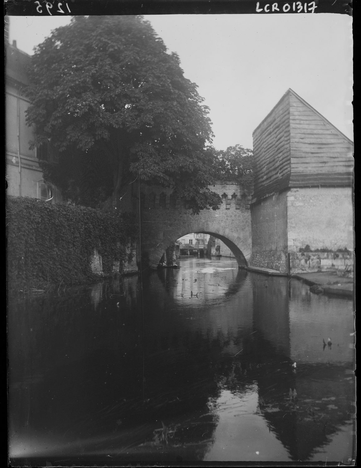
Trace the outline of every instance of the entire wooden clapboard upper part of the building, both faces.
<instances>
[{"instance_id":1,"label":"entire wooden clapboard upper part of the building, both faces","mask_svg":"<svg viewBox=\"0 0 361 468\"><path fill-rule=\"evenodd\" d=\"M292 89L253 132L253 196L353 184L353 143Z\"/></svg>"}]
</instances>

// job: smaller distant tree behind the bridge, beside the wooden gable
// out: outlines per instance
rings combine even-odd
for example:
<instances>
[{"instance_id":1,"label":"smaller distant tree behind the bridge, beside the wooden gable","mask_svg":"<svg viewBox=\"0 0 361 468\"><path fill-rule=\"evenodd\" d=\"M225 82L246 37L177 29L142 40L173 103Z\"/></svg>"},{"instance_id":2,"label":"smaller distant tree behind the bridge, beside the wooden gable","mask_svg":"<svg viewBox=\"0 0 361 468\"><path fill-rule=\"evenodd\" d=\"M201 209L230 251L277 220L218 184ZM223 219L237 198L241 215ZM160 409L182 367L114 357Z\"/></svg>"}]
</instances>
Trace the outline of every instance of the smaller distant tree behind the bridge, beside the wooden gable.
<instances>
[{"instance_id":1,"label":"smaller distant tree behind the bridge, beside the wooden gable","mask_svg":"<svg viewBox=\"0 0 361 468\"><path fill-rule=\"evenodd\" d=\"M251 187L254 177L253 152L241 145L228 146L226 150L216 150L208 146L209 157L213 158L214 180L235 181Z\"/></svg>"}]
</instances>

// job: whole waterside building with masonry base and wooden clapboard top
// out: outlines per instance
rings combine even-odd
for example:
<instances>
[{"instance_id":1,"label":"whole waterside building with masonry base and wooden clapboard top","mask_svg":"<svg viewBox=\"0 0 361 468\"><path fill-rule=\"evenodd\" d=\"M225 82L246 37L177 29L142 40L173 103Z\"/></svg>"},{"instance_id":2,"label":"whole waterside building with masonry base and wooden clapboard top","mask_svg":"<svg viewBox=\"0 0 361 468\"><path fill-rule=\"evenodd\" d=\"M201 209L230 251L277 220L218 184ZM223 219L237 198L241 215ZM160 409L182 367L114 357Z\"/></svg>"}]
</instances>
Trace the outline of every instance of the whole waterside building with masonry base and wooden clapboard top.
<instances>
[{"instance_id":1,"label":"whole waterside building with masonry base and wooden clapboard top","mask_svg":"<svg viewBox=\"0 0 361 468\"><path fill-rule=\"evenodd\" d=\"M288 89L253 132L253 153L251 264L295 272L305 250L319 252L309 271L342 263L354 250L353 142Z\"/></svg>"}]
</instances>

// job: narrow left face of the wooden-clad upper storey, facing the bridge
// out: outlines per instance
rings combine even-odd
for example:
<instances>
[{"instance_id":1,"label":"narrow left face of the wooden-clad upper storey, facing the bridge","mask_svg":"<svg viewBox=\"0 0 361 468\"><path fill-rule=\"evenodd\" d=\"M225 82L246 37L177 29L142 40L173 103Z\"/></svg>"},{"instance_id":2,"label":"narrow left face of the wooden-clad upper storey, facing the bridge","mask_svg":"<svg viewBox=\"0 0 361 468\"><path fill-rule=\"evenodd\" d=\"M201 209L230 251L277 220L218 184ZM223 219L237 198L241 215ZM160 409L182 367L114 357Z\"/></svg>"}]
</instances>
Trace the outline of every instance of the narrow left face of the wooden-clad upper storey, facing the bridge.
<instances>
[{"instance_id":1,"label":"narrow left face of the wooden-clad upper storey, facing the bridge","mask_svg":"<svg viewBox=\"0 0 361 468\"><path fill-rule=\"evenodd\" d=\"M288 187L291 176L289 120L286 93L253 132L254 197Z\"/></svg>"}]
</instances>

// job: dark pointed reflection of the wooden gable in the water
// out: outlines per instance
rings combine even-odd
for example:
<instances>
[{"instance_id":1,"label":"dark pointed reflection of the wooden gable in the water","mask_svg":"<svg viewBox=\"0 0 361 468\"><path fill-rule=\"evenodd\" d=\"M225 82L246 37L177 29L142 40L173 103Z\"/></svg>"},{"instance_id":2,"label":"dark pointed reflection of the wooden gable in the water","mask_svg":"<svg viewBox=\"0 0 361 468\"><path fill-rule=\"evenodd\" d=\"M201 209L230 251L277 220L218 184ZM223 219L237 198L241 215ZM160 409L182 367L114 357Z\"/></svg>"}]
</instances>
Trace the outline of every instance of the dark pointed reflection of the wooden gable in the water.
<instances>
[{"instance_id":1,"label":"dark pointed reflection of the wooden gable in the water","mask_svg":"<svg viewBox=\"0 0 361 468\"><path fill-rule=\"evenodd\" d=\"M293 460L309 460L352 418L353 379L344 367L303 364L287 382L270 374L258 385L260 413ZM274 392L267 392L272 386ZM295 397L290 388L296 389Z\"/></svg>"}]
</instances>

